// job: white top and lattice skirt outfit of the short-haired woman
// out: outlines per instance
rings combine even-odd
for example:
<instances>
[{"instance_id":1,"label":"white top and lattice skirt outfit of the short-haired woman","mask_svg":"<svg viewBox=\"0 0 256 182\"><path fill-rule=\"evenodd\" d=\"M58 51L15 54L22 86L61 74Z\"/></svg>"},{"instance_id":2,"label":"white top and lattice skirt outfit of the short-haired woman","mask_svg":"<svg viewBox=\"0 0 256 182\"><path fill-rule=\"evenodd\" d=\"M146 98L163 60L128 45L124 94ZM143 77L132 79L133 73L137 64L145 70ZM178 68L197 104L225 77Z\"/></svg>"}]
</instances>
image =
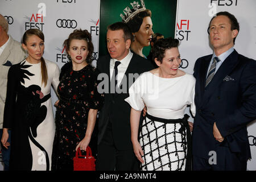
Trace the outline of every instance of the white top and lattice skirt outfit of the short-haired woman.
<instances>
[{"instance_id":1,"label":"white top and lattice skirt outfit of the short-haired woman","mask_svg":"<svg viewBox=\"0 0 256 182\"><path fill-rule=\"evenodd\" d=\"M144 104L147 106L147 116L139 131L139 142L144 152L141 169L184 170L187 132L182 122L168 121L181 121L187 105L191 105L191 112L195 115L195 78L188 73L176 78L162 78L144 72L130 87L129 94L125 101L133 109L142 111Z\"/></svg>"}]
</instances>

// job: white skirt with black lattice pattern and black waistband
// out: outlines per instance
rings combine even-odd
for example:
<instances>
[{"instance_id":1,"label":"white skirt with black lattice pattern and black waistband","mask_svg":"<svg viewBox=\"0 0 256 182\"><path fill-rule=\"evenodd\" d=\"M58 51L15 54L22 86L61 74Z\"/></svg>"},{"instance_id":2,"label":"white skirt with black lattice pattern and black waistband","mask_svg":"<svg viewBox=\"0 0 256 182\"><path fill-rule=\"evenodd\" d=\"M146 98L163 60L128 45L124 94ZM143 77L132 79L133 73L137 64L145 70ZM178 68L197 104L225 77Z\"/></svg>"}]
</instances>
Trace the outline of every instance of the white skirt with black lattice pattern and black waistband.
<instances>
[{"instance_id":1,"label":"white skirt with black lattice pattern and black waistband","mask_svg":"<svg viewBox=\"0 0 256 182\"><path fill-rule=\"evenodd\" d=\"M142 171L190 170L191 133L188 117L185 114L182 119L162 119L146 114L139 134L139 143L144 152Z\"/></svg>"}]
</instances>

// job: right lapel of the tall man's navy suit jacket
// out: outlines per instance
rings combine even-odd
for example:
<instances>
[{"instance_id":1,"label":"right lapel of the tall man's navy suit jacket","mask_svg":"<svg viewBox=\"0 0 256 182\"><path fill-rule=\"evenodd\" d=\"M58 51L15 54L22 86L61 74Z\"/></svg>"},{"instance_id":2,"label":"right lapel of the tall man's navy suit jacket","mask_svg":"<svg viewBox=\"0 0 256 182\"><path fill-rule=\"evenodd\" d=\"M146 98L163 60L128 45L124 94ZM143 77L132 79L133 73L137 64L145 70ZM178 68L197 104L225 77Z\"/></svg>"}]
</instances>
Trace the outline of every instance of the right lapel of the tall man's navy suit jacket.
<instances>
[{"instance_id":1,"label":"right lapel of the tall man's navy suit jacket","mask_svg":"<svg viewBox=\"0 0 256 182\"><path fill-rule=\"evenodd\" d=\"M210 81L207 89L205 90L203 101L207 101L206 98L212 96L212 93L215 92L216 89L219 89L219 85L224 80L224 78L229 75L236 65L239 63L238 61L238 53L234 50L221 64L220 68L218 68L216 74Z\"/></svg>"}]
</instances>

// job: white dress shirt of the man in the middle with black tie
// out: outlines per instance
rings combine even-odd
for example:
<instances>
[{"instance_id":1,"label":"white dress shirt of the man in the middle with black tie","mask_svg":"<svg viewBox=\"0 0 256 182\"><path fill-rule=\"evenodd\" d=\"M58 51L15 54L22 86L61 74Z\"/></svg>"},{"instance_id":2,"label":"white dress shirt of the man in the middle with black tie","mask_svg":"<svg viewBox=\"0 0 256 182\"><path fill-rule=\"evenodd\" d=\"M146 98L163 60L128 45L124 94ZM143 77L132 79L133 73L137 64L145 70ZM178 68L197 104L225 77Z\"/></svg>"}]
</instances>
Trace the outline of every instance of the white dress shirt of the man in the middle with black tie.
<instances>
[{"instance_id":1,"label":"white dress shirt of the man in the middle with black tie","mask_svg":"<svg viewBox=\"0 0 256 182\"><path fill-rule=\"evenodd\" d=\"M114 66L115 66L115 61L120 61L121 64L118 65L117 67L117 86L121 84L121 81L123 79L123 76L125 75L126 69L128 68L128 65L131 61L131 57L133 57L133 53L129 49L129 53L125 58L122 60L117 60L117 59L110 59L110 79L112 79L113 71L114 71Z\"/></svg>"}]
</instances>

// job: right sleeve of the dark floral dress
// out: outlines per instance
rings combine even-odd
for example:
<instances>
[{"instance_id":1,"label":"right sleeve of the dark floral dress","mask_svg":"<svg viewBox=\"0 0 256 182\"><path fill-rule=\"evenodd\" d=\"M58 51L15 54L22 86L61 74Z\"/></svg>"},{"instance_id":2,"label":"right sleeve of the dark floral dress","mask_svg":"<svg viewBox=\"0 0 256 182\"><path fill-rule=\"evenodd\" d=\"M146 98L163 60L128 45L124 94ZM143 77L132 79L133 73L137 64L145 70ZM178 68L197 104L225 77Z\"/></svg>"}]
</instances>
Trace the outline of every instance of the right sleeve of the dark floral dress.
<instances>
[{"instance_id":1,"label":"right sleeve of the dark floral dress","mask_svg":"<svg viewBox=\"0 0 256 182\"><path fill-rule=\"evenodd\" d=\"M98 84L100 81L97 80L99 72L97 69L92 72L92 89L89 92L89 108L100 110L104 104L104 94L98 93Z\"/></svg>"}]
</instances>

